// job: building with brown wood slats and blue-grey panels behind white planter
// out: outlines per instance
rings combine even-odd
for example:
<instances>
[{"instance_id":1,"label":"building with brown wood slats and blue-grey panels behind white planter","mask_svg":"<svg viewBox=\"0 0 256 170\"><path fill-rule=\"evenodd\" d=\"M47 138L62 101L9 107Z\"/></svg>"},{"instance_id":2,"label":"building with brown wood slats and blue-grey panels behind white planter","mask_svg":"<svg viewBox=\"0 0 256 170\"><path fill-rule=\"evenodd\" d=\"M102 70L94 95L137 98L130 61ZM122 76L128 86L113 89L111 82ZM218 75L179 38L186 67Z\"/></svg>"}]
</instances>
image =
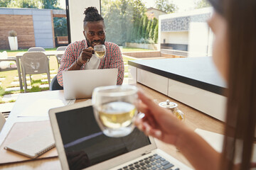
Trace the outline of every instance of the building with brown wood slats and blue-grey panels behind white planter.
<instances>
[{"instance_id":1,"label":"building with brown wood slats and blue-grey panels behind white planter","mask_svg":"<svg viewBox=\"0 0 256 170\"><path fill-rule=\"evenodd\" d=\"M9 49L10 30L17 32L19 49L55 47L53 17L65 17L65 10L0 8L0 49Z\"/></svg>"}]
</instances>

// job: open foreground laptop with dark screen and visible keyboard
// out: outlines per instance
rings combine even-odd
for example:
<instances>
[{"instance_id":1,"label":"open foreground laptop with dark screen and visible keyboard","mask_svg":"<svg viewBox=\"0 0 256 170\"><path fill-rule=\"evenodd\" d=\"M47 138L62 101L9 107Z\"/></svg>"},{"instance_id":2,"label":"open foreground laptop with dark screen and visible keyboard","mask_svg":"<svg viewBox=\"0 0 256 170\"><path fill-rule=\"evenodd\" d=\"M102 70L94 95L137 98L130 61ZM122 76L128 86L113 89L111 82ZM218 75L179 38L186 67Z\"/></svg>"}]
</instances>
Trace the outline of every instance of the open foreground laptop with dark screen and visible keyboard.
<instances>
[{"instance_id":1,"label":"open foreground laptop with dark screen and visible keyboard","mask_svg":"<svg viewBox=\"0 0 256 170\"><path fill-rule=\"evenodd\" d=\"M62 169L191 169L137 128L125 137L105 136L86 101L52 108L49 116Z\"/></svg>"}]
</instances>

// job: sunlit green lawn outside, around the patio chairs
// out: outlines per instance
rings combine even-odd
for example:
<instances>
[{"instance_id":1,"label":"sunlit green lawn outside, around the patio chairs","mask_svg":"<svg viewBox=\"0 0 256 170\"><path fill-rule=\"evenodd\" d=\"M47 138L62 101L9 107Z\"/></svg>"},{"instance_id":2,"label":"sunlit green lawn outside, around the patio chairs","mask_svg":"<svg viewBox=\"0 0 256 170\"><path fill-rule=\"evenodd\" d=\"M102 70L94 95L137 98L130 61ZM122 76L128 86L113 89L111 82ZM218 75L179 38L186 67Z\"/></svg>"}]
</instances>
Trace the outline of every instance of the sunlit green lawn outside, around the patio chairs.
<instances>
[{"instance_id":1,"label":"sunlit green lawn outside, around the patio chairs","mask_svg":"<svg viewBox=\"0 0 256 170\"><path fill-rule=\"evenodd\" d=\"M57 48L50 48L46 50L56 50ZM28 49L23 49L23 50L16 50L16 51L11 51L11 50L0 50L0 52L6 51L8 53L8 56L15 56L18 52L26 52ZM139 48L132 48L132 47L123 47L121 48L122 52L134 52L134 51L147 51L146 49L139 49ZM128 60L134 60L130 59L129 57L123 57L124 58L124 64L128 64ZM50 74L57 74L58 72L58 64L55 56L50 57ZM124 67L124 72L128 72L128 66ZM42 81L42 80L47 80L47 77L43 77L43 75L46 74L34 74L32 77L31 81L31 89L28 89L28 92L36 92L36 91L46 91L49 88L40 88L39 86L42 84L48 84L48 81ZM6 103L6 101L3 101L2 98L5 94L18 94L23 92L22 91L4 91L4 89L11 88L11 87L19 87L19 84L11 84L14 79L18 77L18 72L17 70L11 70L11 71L6 71L6 72L0 72L0 78L5 78L4 81L1 81L1 86L0 86L0 103ZM127 77L127 75L125 76ZM53 78L53 77L51 77ZM18 79L16 79L18 81ZM30 82L30 79L28 78L27 81ZM29 86L29 84L28 84ZM9 102L15 102L9 101Z\"/></svg>"}]
</instances>

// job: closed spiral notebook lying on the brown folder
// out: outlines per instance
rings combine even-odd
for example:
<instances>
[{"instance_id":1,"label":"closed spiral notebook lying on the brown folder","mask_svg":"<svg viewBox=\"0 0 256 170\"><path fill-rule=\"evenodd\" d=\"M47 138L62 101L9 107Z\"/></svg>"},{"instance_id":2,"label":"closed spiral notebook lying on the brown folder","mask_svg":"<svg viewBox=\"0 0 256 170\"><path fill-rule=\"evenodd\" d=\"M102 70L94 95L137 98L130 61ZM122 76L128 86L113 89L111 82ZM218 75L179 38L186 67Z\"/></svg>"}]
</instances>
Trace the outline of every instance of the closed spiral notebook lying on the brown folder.
<instances>
[{"instance_id":1,"label":"closed spiral notebook lying on the brown folder","mask_svg":"<svg viewBox=\"0 0 256 170\"><path fill-rule=\"evenodd\" d=\"M50 128L46 128L13 142L4 147L4 149L26 157L36 158L53 147L55 147L53 133Z\"/></svg>"}]
</instances>

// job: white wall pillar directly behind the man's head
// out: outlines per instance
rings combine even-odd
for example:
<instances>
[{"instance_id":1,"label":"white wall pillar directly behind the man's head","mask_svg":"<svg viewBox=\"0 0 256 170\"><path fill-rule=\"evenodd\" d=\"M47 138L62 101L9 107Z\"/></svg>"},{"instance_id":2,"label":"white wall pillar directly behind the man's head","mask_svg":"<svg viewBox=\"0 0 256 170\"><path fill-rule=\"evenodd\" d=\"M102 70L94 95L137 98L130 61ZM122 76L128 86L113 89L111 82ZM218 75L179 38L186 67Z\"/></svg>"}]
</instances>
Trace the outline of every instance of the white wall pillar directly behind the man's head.
<instances>
[{"instance_id":1,"label":"white wall pillar directly behind the man's head","mask_svg":"<svg viewBox=\"0 0 256 170\"><path fill-rule=\"evenodd\" d=\"M71 42L85 39L83 35L83 14L85 8L95 6L100 13L100 0L68 0Z\"/></svg>"}]
</instances>

